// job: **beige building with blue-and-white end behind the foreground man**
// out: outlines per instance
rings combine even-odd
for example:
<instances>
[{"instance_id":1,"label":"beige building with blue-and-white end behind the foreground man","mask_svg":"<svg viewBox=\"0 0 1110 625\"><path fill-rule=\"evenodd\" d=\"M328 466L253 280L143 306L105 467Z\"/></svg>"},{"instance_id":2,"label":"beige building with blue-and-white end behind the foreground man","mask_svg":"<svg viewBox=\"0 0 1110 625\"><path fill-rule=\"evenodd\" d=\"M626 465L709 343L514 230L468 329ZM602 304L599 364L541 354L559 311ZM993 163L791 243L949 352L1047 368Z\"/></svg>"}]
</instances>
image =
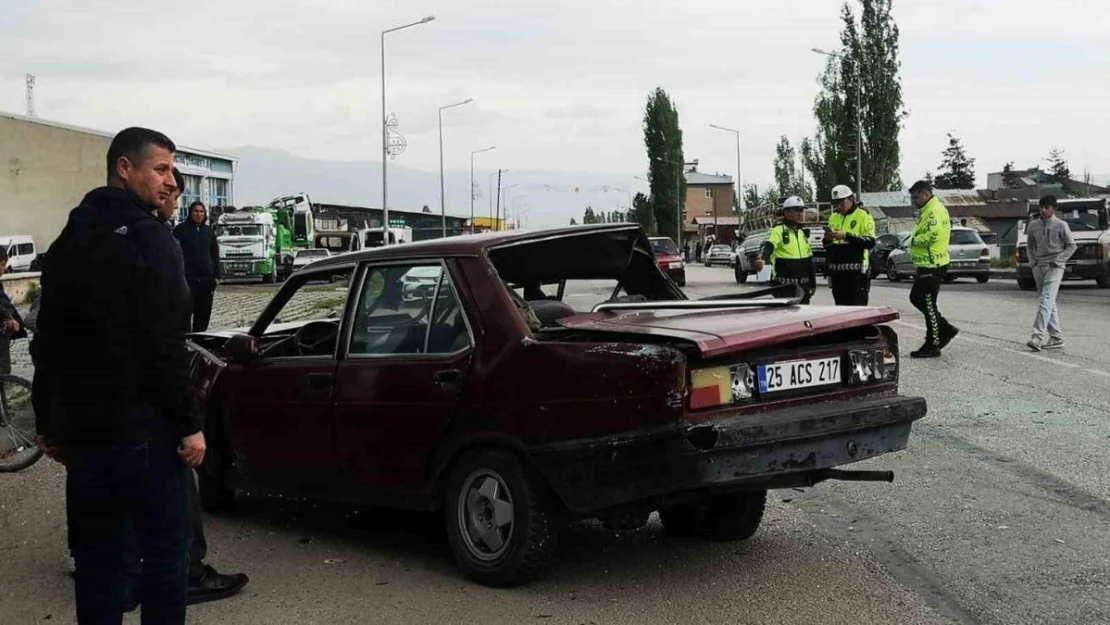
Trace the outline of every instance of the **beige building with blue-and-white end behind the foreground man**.
<instances>
[{"instance_id":1,"label":"beige building with blue-and-white end behind the foreground man","mask_svg":"<svg viewBox=\"0 0 1110 625\"><path fill-rule=\"evenodd\" d=\"M70 210L104 185L114 133L0 111L0 234L30 234L46 250ZM172 137L171 137L172 138ZM236 159L178 145L185 177L182 206L234 203Z\"/></svg>"}]
</instances>

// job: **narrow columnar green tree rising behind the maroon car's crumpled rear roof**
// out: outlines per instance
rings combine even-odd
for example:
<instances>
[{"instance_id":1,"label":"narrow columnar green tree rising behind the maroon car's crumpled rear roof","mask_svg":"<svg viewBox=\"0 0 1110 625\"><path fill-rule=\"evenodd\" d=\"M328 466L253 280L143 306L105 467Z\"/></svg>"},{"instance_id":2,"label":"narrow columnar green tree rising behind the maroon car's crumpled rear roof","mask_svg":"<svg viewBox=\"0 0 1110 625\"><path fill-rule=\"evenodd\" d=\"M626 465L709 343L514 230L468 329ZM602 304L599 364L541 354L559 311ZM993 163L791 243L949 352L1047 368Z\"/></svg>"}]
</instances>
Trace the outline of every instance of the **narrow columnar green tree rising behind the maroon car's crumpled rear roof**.
<instances>
[{"instance_id":1,"label":"narrow columnar green tree rising behind the maroon car's crumpled rear roof","mask_svg":"<svg viewBox=\"0 0 1110 625\"><path fill-rule=\"evenodd\" d=\"M680 224L676 206L683 212L686 180L683 175L683 131L678 110L663 88L648 94L644 110L644 145L647 148L647 178L652 184L652 212L663 236L678 241Z\"/></svg>"}]
</instances>

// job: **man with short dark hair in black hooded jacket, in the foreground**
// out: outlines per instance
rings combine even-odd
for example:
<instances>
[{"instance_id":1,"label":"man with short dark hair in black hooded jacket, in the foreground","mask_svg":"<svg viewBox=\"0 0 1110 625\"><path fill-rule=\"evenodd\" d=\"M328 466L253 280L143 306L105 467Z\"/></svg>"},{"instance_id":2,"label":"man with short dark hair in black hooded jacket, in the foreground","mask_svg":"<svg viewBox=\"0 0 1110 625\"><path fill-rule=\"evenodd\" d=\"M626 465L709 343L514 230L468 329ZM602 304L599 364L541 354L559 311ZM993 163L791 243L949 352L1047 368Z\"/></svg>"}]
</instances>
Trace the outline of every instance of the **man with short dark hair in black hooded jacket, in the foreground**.
<instances>
[{"instance_id":1,"label":"man with short dark hair in black hooded jacket, in the foreground","mask_svg":"<svg viewBox=\"0 0 1110 625\"><path fill-rule=\"evenodd\" d=\"M32 401L40 447L65 464L78 623L120 623L130 545L144 624L185 622L186 468L204 460L171 232L173 142L128 128L47 252Z\"/></svg>"}]
</instances>

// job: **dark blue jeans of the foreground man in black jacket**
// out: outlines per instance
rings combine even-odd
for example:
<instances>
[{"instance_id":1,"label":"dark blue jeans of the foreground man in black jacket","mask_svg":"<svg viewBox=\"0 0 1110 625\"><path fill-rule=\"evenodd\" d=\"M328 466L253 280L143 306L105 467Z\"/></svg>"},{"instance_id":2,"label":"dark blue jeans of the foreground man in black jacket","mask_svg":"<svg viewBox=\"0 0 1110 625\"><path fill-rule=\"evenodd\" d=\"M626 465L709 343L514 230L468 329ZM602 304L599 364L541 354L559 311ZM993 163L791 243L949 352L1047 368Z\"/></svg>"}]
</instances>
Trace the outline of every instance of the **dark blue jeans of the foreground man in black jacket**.
<instances>
[{"instance_id":1,"label":"dark blue jeans of the foreground man in black jacket","mask_svg":"<svg viewBox=\"0 0 1110 625\"><path fill-rule=\"evenodd\" d=\"M140 445L67 450L78 623L121 623L135 591L143 625L185 622L186 471L176 446L155 435Z\"/></svg>"}]
</instances>

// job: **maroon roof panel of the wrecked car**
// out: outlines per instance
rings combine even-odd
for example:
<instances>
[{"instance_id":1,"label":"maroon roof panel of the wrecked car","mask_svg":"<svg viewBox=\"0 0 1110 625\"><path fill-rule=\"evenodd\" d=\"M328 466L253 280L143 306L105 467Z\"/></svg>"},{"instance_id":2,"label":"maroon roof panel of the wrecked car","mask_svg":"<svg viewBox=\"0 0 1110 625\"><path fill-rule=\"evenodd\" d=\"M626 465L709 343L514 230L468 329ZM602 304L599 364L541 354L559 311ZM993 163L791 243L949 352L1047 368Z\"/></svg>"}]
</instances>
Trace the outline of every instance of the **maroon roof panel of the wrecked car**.
<instances>
[{"instance_id":1,"label":"maroon roof panel of the wrecked car","mask_svg":"<svg viewBox=\"0 0 1110 625\"><path fill-rule=\"evenodd\" d=\"M346 265L352 262L394 261L404 259L427 259L446 256L478 256L487 251L518 243L545 241L562 236L577 236L595 232L627 232L639 230L638 223L604 223L591 225L571 225L548 230L512 230L504 232L485 232L481 234L463 234L446 239L431 239L415 243L401 243L360 250L344 254L334 254L325 260L312 263L313 270L326 270L330 266Z\"/></svg>"}]
</instances>

